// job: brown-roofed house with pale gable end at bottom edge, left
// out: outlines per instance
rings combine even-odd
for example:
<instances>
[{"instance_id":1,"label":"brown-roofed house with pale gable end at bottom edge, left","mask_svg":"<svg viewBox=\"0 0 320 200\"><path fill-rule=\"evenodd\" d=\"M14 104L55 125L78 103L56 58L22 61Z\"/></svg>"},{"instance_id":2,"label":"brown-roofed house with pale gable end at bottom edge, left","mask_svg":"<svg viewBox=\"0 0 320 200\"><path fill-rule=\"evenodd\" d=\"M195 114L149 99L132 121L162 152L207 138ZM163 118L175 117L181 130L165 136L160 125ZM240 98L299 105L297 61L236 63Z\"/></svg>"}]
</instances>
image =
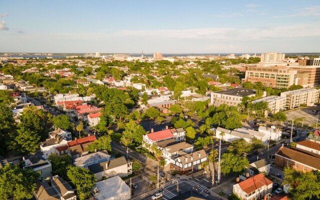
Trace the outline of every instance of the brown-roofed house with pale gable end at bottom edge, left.
<instances>
[{"instance_id":1,"label":"brown-roofed house with pale gable end at bottom edge, left","mask_svg":"<svg viewBox=\"0 0 320 200\"><path fill-rule=\"evenodd\" d=\"M70 184L63 178L55 175L52 177L51 185L60 200L76 200L76 195Z\"/></svg>"}]
</instances>

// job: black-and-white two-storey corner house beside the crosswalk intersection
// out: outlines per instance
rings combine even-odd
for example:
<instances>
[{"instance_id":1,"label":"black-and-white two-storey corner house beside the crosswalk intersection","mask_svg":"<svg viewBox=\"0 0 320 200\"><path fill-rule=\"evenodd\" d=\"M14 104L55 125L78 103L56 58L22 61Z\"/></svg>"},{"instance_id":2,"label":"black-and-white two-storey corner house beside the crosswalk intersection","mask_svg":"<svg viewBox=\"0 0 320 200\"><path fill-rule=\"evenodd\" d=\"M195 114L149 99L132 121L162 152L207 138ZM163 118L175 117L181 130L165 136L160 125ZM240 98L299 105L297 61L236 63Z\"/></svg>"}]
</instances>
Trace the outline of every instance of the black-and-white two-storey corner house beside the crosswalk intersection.
<instances>
[{"instance_id":1,"label":"black-and-white two-storey corner house beside the crosswalk intersection","mask_svg":"<svg viewBox=\"0 0 320 200\"><path fill-rule=\"evenodd\" d=\"M203 149L186 153L182 150L178 155L170 160L170 169L179 174L185 174L195 169L201 169L201 163L207 160L207 155Z\"/></svg>"}]
</instances>

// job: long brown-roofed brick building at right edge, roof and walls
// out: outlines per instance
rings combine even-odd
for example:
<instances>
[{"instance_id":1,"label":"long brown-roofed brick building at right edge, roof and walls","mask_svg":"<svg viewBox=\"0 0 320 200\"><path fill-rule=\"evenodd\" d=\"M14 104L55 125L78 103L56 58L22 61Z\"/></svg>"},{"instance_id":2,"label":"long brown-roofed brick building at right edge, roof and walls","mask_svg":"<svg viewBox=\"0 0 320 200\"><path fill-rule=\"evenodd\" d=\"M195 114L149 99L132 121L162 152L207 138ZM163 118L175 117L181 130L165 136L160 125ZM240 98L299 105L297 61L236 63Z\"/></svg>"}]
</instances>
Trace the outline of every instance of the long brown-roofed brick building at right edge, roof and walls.
<instances>
[{"instance_id":1,"label":"long brown-roofed brick building at right edge, roof and walls","mask_svg":"<svg viewBox=\"0 0 320 200\"><path fill-rule=\"evenodd\" d=\"M304 152L281 146L275 152L274 164L278 167L291 167L298 171L320 170L320 158Z\"/></svg>"}]
</instances>

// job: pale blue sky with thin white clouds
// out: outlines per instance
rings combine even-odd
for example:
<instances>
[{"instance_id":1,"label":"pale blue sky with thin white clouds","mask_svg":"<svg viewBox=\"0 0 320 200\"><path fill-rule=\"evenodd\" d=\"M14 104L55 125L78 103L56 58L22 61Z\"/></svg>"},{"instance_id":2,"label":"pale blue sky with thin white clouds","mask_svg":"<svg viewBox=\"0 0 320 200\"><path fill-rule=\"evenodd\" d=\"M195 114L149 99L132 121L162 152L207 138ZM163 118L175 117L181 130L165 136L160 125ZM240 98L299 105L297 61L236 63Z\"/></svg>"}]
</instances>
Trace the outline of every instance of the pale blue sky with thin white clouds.
<instances>
[{"instance_id":1,"label":"pale blue sky with thin white clouds","mask_svg":"<svg viewBox=\"0 0 320 200\"><path fill-rule=\"evenodd\" d=\"M0 0L0 52L319 52L320 0Z\"/></svg>"}]
</instances>

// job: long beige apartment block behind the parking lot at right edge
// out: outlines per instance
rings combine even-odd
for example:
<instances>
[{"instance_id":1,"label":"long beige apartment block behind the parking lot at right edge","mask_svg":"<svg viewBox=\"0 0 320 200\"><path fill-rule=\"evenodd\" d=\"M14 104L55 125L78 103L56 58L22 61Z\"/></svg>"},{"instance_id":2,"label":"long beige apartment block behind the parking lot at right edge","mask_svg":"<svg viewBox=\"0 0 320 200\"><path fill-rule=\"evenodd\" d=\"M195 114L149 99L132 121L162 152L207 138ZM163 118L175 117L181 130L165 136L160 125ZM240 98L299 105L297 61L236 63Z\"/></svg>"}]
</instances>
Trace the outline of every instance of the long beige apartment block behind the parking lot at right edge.
<instances>
[{"instance_id":1,"label":"long beige apartment block behind the parking lot at right edge","mask_svg":"<svg viewBox=\"0 0 320 200\"><path fill-rule=\"evenodd\" d=\"M319 102L319 94L320 89L303 88L281 92L280 96L285 97L284 108L293 109L299 107L301 104L313 106L314 103Z\"/></svg>"}]
</instances>

